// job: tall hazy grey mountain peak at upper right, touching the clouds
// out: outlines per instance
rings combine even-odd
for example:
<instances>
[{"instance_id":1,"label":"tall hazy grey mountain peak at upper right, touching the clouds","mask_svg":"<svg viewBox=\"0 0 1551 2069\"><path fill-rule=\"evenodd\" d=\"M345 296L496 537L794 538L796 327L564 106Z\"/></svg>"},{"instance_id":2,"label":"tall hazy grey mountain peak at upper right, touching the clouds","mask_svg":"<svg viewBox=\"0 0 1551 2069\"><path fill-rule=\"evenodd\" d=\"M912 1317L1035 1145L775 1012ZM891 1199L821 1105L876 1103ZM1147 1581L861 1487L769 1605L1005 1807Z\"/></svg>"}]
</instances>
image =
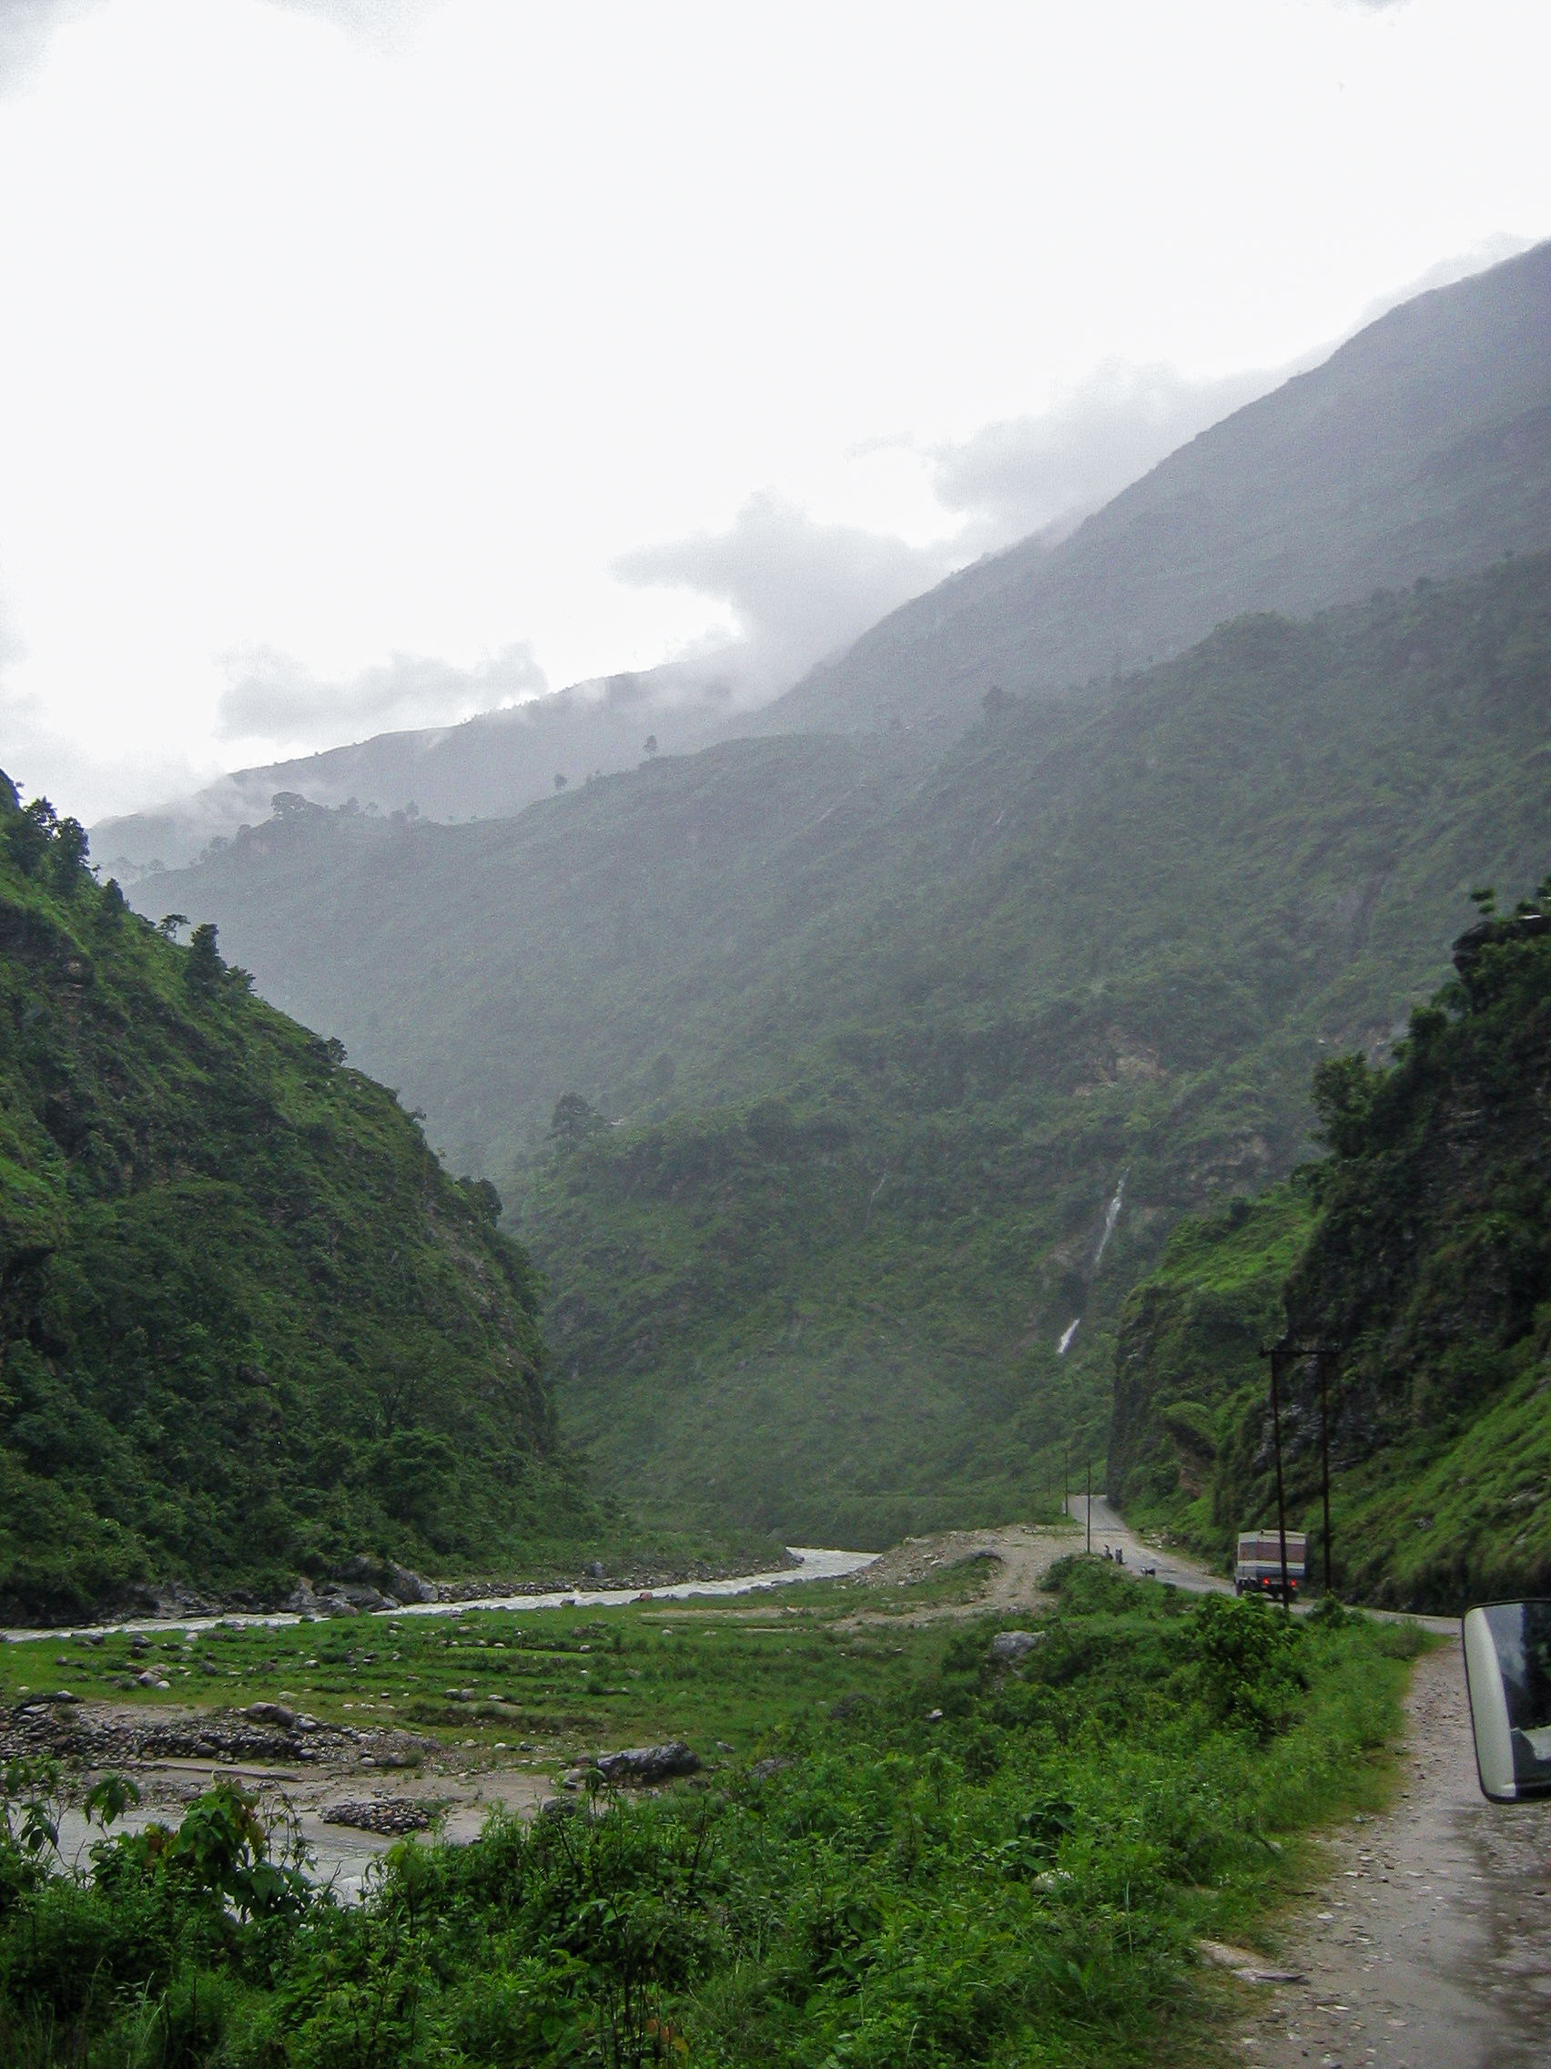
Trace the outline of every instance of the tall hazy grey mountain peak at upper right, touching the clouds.
<instances>
[{"instance_id":1,"label":"tall hazy grey mountain peak at upper right, touching the clouds","mask_svg":"<svg viewBox=\"0 0 1551 2069\"><path fill-rule=\"evenodd\" d=\"M986 689L1164 660L1247 610L1307 612L1551 546L1551 244L1417 296L1170 453L1048 548L939 583L759 714L939 743Z\"/></svg>"}]
</instances>

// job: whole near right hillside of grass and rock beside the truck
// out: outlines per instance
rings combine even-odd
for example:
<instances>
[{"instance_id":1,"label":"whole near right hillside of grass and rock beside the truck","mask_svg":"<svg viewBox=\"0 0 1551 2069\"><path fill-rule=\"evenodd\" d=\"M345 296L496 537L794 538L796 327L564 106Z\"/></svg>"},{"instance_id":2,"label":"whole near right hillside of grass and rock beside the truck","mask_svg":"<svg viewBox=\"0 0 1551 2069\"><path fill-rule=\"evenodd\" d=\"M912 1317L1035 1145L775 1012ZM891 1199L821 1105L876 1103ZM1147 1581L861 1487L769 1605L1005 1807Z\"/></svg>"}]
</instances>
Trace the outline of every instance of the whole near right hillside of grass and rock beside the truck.
<instances>
[{"instance_id":1,"label":"whole near right hillside of grass and rock beside the truck","mask_svg":"<svg viewBox=\"0 0 1551 2069\"><path fill-rule=\"evenodd\" d=\"M1321 1543L1324 1376L1338 1587L1456 1610L1551 1585L1549 914L1551 879L1472 927L1388 1070L1321 1066L1326 1159L1187 1223L1131 1295L1108 1471L1135 1521L1226 1560L1274 1517L1259 1349L1286 1332L1288 1521Z\"/></svg>"}]
</instances>

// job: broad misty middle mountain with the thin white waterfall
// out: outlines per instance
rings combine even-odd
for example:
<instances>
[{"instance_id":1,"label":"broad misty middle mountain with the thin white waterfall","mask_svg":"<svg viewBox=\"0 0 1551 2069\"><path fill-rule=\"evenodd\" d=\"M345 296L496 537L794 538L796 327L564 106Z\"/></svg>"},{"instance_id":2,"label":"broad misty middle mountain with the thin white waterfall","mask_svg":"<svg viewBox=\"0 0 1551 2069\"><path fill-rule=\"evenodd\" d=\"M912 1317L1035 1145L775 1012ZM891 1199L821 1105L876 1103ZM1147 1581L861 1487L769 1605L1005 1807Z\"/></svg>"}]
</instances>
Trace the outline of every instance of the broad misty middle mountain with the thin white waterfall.
<instances>
[{"instance_id":1,"label":"broad misty middle mountain with the thin white waterfall","mask_svg":"<svg viewBox=\"0 0 1551 2069\"><path fill-rule=\"evenodd\" d=\"M1549 674L1551 563L1506 561L993 699L926 778L728 743L507 826L300 813L157 904L496 1177L622 1483L881 1541L1102 1455L1170 1221L1290 1169L1319 1055L1537 875Z\"/></svg>"}]
</instances>

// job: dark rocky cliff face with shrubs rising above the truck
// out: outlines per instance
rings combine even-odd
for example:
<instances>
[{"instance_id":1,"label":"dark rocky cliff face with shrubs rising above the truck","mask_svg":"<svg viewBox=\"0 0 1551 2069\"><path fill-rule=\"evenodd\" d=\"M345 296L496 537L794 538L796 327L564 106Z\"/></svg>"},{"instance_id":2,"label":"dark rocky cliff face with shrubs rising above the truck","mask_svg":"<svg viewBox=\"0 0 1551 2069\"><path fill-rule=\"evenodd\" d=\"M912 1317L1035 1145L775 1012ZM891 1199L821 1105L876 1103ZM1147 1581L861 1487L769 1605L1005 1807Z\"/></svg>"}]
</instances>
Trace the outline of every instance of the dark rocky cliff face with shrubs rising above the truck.
<instances>
[{"instance_id":1,"label":"dark rocky cliff face with shrubs rising above the truck","mask_svg":"<svg viewBox=\"0 0 1551 2069\"><path fill-rule=\"evenodd\" d=\"M1394 1072L1352 1059L1319 1086L1334 1155L1288 1287L1295 1407L1324 1359L1352 1461L1508 1378L1551 1295L1551 925L1487 921L1454 962Z\"/></svg>"}]
</instances>

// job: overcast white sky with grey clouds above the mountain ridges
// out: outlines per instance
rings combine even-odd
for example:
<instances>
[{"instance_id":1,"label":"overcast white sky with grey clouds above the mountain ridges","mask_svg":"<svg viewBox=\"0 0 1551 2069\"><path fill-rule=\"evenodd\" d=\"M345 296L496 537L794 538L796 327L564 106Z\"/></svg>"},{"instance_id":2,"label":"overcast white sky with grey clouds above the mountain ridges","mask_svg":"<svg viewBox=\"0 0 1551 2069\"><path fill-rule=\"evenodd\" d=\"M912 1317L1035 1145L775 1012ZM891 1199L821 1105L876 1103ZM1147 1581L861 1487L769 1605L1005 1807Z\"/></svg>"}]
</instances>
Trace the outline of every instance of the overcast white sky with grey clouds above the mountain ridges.
<instances>
[{"instance_id":1,"label":"overcast white sky with grey clouds above the mountain ridges","mask_svg":"<svg viewBox=\"0 0 1551 2069\"><path fill-rule=\"evenodd\" d=\"M4 766L796 670L1551 232L1549 77L1545 0L0 0Z\"/></svg>"}]
</instances>

